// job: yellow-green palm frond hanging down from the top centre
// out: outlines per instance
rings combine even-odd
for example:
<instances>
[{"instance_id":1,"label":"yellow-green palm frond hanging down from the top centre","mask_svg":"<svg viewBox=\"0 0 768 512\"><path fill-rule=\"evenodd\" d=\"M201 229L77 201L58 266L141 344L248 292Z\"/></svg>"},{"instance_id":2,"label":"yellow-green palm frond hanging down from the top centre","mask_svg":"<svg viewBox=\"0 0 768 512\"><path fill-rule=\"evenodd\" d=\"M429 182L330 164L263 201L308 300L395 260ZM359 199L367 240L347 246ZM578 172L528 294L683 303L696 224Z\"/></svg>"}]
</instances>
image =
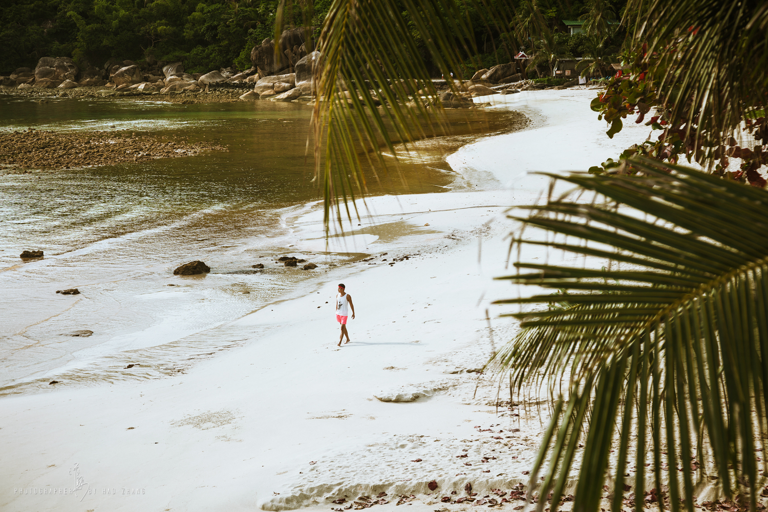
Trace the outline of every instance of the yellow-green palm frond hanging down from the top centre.
<instances>
[{"instance_id":1,"label":"yellow-green palm frond hanging down from the top centre","mask_svg":"<svg viewBox=\"0 0 768 512\"><path fill-rule=\"evenodd\" d=\"M405 12L403 12L405 8ZM417 39L454 90L472 26L453 0L335 0L319 36L313 117L316 176L324 183L326 229L350 217L364 168L387 168L382 150L434 133L442 107ZM395 167L389 162L389 167ZM401 177L404 179L404 177ZM345 215L346 213L346 215Z\"/></svg>"}]
</instances>

